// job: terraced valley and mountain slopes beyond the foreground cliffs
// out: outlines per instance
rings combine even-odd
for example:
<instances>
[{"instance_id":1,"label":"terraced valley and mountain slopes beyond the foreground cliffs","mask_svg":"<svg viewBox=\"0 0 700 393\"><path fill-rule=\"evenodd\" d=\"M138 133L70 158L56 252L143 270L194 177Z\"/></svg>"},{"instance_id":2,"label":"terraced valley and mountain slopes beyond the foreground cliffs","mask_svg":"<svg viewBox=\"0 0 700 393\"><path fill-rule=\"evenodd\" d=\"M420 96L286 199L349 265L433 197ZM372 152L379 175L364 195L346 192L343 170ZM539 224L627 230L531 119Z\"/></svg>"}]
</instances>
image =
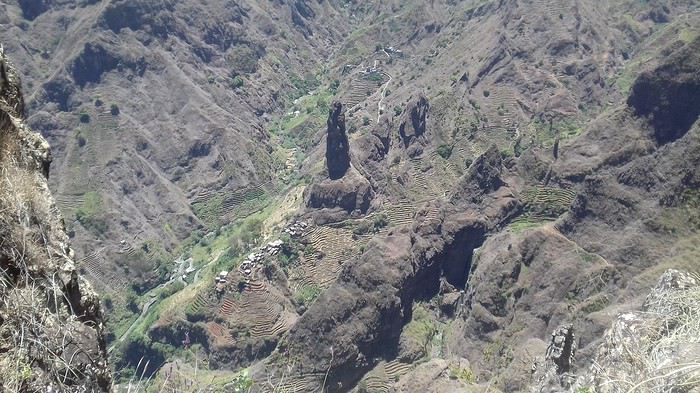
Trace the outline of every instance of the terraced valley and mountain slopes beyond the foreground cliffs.
<instances>
[{"instance_id":1,"label":"terraced valley and mountain slopes beyond the foreground cliffs","mask_svg":"<svg viewBox=\"0 0 700 393\"><path fill-rule=\"evenodd\" d=\"M697 271L697 2L28 4L122 382L520 391Z\"/></svg>"}]
</instances>

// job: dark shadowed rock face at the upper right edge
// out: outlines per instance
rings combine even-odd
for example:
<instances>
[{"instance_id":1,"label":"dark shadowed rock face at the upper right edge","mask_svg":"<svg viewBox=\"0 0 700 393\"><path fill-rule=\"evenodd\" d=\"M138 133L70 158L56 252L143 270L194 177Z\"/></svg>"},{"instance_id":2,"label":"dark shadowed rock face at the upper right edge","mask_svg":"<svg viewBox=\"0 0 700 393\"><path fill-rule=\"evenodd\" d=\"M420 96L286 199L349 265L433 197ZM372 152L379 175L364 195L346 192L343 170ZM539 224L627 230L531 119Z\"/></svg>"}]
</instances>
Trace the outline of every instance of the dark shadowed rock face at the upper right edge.
<instances>
[{"instance_id":1,"label":"dark shadowed rock face at the upper right edge","mask_svg":"<svg viewBox=\"0 0 700 393\"><path fill-rule=\"evenodd\" d=\"M627 103L638 116L646 116L658 143L683 136L700 115L700 38L675 49L632 86Z\"/></svg>"}]
</instances>

